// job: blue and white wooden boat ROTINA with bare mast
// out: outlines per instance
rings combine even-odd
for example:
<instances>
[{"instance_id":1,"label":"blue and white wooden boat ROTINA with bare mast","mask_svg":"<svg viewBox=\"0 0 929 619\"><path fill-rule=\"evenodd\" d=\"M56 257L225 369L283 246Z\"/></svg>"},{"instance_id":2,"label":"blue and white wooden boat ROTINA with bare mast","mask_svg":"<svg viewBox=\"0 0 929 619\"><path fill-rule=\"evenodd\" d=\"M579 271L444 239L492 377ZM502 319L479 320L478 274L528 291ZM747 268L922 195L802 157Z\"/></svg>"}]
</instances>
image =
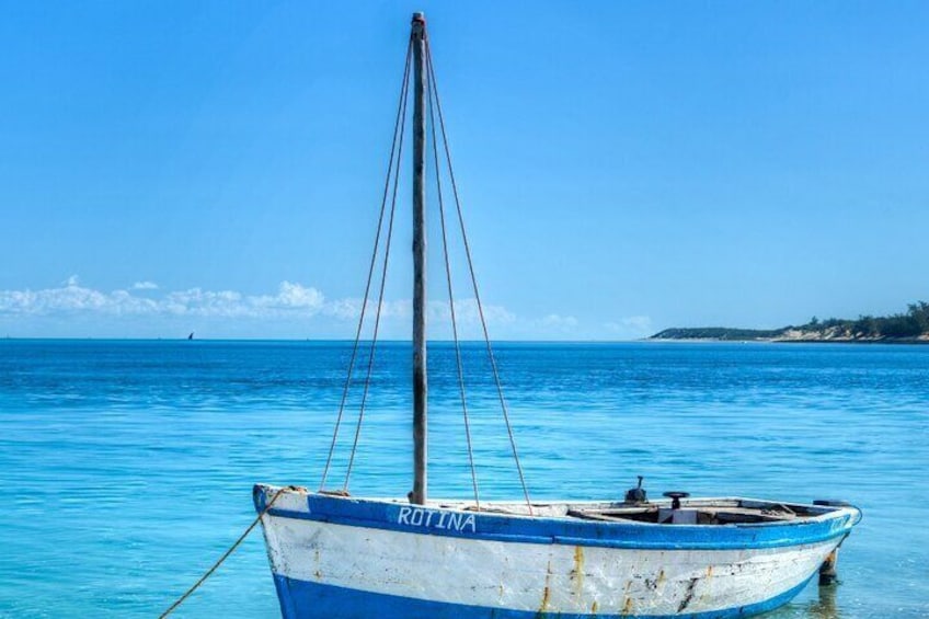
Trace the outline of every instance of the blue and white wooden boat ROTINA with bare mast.
<instances>
[{"instance_id":1,"label":"blue and white wooden boat ROTINA with bare mast","mask_svg":"<svg viewBox=\"0 0 929 619\"><path fill-rule=\"evenodd\" d=\"M690 498L686 493L667 493L668 498L650 502L641 478L639 488L610 503L531 502L527 491L525 502L479 502L477 478L473 501L426 496L423 140L427 88L431 104L433 96L437 103L437 94L420 13L413 18L398 119L405 112L411 55L413 491L403 498L358 498L345 491L324 491L325 480L319 491L256 485L254 504L282 615L709 619L745 617L790 600L821 566L834 563L839 545L860 519L857 508L840 502L805 505ZM433 81L427 83L431 74ZM402 145L402 123L400 133ZM435 121L433 133L435 142ZM374 259L371 265L374 270ZM356 336L356 349L357 342ZM349 383L351 369L346 390Z\"/></svg>"}]
</instances>

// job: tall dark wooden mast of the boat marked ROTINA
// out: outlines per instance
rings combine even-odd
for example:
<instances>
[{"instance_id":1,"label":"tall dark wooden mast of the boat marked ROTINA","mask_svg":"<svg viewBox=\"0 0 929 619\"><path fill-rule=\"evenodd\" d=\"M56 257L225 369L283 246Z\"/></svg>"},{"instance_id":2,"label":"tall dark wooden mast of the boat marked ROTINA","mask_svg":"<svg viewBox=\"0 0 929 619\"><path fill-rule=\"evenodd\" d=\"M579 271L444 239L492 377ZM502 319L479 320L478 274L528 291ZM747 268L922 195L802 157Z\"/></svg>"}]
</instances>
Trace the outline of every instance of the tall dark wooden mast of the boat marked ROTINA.
<instances>
[{"instance_id":1,"label":"tall dark wooden mast of the boat marked ROTINA","mask_svg":"<svg viewBox=\"0 0 929 619\"><path fill-rule=\"evenodd\" d=\"M413 13L413 491L426 502L426 20Z\"/></svg>"}]
</instances>

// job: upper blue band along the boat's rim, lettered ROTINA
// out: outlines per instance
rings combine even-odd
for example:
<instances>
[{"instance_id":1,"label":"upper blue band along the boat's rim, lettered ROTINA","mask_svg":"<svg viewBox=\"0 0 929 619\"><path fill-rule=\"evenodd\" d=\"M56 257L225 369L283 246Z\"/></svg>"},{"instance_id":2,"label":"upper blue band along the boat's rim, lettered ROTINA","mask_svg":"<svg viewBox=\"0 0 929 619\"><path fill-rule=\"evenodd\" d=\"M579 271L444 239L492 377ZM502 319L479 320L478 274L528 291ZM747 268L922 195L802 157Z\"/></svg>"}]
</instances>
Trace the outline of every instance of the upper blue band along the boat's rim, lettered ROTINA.
<instances>
[{"instance_id":1,"label":"upper blue band along the boat's rim, lettered ROTINA","mask_svg":"<svg viewBox=\"0 0 929 619\"><path fill-rule=\"evenodd\" d=\"M255 507L265 506L265 490L255 486ZM462 539L502 542L571 545L635 550L748 550L784 548L818 543L848 535L855 525L852 515L836 514L821 520L798 519L787 523L745 525L690 526L604 523L572 518L526 518L500 514L469 512L473 525L440 528L450 509L427 508L434 513L426 526L411 524L410 505L386 501L370 501L309 494L309 512L272 508L271 514L286 518L333 523L352 527L394 530L413 535L434 535ZM401 509L408 514L402 517ZM445 513L446 516L441 516ZM460 524L460 520L456 524Z\"/></svg>"}]
</instances>

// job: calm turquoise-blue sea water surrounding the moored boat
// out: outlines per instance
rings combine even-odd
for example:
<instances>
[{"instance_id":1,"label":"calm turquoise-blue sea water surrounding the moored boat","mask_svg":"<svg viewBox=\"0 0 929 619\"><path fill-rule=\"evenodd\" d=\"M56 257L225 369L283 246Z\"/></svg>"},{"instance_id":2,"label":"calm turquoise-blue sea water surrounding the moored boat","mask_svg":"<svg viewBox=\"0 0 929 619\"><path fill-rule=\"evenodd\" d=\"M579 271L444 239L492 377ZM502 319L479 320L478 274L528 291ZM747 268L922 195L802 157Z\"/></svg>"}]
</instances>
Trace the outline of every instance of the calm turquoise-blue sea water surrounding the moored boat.
<instances>
[{"instance_id":1,"label":"calm turquoise-blue sea water surrounding the moored boat","mask_svg":"<svg viewBox=\"0 0 929 619\"><path fill-rule=\"evenodd\" d=\"M253 482L318 485L348 353L0 341L0 616L157 616L251 521ZM479 353L466 364L482 494L518 496ZM864 520L841 584L770 617L929 617L929 346L506 344L498 357L534 497L618 497L643 474L653 496L845 498ZM355 494L411 486L408 358L405 344L378 353ZM451 360L431 348L431 490L467 496ZM177 616L277 617L261 536Z\"/></svg>"}]
</instances>

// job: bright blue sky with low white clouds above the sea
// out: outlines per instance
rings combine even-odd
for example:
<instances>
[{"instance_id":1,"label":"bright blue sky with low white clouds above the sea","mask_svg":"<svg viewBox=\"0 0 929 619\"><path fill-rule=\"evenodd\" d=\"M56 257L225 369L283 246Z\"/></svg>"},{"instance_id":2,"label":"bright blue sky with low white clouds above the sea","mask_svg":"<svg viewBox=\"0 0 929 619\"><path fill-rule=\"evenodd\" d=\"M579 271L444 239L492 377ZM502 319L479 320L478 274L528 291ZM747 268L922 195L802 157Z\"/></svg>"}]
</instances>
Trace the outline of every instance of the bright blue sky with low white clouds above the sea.
<instances>
[{"instance_id":1,"label":"bright blue sky with low white clouds above the sea","mask_svg":"<svg viewBox=\"0 0 929 619\"><path fill-rule=\"evenodd\" d=\"M925 2L2 7L0 337L353 337L415 10L493 337L929 300ZM410 195L401 174L391 339Z\"/></svg>"}]
</instances>

